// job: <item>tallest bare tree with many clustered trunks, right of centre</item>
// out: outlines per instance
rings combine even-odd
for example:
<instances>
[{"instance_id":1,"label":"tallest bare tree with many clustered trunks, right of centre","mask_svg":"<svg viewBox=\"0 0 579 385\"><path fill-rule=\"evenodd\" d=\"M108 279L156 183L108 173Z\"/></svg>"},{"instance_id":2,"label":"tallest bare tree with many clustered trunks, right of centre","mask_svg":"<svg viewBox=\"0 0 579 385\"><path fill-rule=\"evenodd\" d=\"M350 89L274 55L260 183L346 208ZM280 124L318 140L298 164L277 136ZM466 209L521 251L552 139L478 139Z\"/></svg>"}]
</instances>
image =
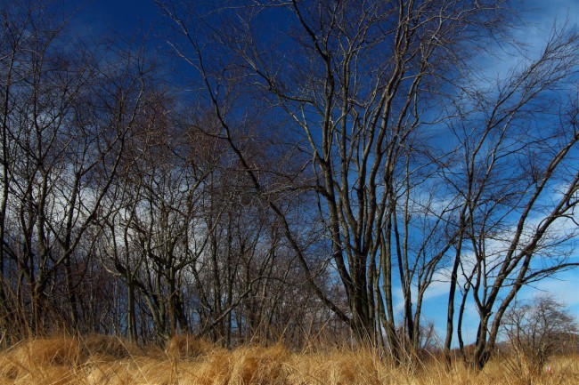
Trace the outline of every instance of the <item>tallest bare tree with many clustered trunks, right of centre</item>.
<instances>
[{"instance_id":1,"label":"tallest bare tree with many clustered trunks, right of centre","mask_svg":"<svg viewBox=\"0 0 579 385\"><path fill-rule=\"evenodd\" d=\"M378 341L384 330L387 344L400 358L405 337L396 335L393 287L400 282L403 288L404 333L416 348L423 295L456 237L442 221L450 208L421 199L434 185L430 177L436 168L428 156L428 124L440 118L427 111L444 100L440 89L460 67L461 50L476 45L477 36L497 25L501 4L232 5L210 14L198 12L195 18L195 10L159 2L184 44L191 44L193 53L188 55L183 40L172 42L200 71L222 126L220 134L265 198L270 191L236 143L235 127L244 124L237 116L251 103L267 111L259 113L264 119L286 116L278 120L279 129L289 132L309 156L309 188L319 202L319 220L331 245L328 261L345 288L347 309L314 290L359 339ZM276 32L280 39L273 43L284 44L284 50L265 46L260 36L258 26L271 10L284 12L290 20L289 30ZM228 32L219 33L221 28L208 21L227 25ZM285 33L290 37L282 37ZM216 44L206 45L208 41ZM221 66L221 57L227 65ZM241 92L244 100L235 100ZM287 217L271 198L268 203L316 287ZM420 225L412 222L417 216ZM424 235L411 237L414 227L421 227Z\"/></svg>"}]
</instances>

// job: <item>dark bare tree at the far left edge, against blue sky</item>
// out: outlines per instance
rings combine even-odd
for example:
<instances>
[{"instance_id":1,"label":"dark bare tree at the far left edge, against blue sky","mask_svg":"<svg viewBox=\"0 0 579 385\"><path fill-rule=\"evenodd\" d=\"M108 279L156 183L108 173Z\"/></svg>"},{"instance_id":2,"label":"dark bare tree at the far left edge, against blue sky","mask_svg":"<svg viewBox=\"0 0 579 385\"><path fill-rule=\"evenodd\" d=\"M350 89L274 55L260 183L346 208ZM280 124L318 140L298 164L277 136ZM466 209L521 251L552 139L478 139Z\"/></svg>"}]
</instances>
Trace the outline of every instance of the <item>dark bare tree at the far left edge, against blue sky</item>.
<instances>
[{"instance_id":1,"label":"dark bare tree at the far left edge, against blue sky","mask_svg":"<svg viewBox=\"0 0 579 385\"><path fill-rule=\"evenodd\" d=\"M33 330L50 327L50 317L77 327L73 276L82 269L73 258L102 211L143 82L131 60L66 41L67 20L51 4L3 11L3 263L15 269L17 308L29 310ZM66 309L52 311L61 285Z\"/></svg>"}]
</instances>

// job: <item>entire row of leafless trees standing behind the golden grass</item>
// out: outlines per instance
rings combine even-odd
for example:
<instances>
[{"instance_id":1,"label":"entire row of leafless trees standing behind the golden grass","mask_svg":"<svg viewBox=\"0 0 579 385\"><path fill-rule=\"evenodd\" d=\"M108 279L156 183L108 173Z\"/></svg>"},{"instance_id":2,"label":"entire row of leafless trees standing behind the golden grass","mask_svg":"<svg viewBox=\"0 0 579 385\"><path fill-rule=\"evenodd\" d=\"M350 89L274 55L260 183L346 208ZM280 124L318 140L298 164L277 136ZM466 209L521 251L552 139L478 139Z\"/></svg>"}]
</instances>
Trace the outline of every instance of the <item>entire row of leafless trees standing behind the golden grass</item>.
<instances>
[{"instance_id":1,"label":"entire row of leafless trees standing behind the golden grass","mask_svg":"<svg viewBox=\"0 0 579 385\"><path fill-rule=\"evenodd\" d=\"M456 338L482 368L520 289L577 266L576 26L526 57L502 1L155 3L185 87L146 40L3 4L6 335L314 335L404 362L444 285L445 357ZM481 66L497 49L516 63Z\"/></svg>"}]
</instances>

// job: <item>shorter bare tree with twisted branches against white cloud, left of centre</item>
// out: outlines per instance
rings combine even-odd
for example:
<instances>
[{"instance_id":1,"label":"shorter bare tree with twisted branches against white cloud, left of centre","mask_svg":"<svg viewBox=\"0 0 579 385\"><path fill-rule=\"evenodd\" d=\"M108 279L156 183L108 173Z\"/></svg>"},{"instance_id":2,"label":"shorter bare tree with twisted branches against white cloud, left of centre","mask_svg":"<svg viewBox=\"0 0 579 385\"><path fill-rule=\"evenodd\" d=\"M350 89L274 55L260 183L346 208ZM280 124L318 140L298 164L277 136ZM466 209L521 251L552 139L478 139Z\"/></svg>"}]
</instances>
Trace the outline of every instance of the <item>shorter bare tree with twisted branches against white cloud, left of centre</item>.
<instances>
[{"instance_id":1,"label":"shorter bare tree with twisted branches against white cloud, left of centre","mask_svg":"<svg viewBox=\"0 0 579 385\"><path fill-rule=\"evenodd\" d=\"M188 332L182 271L207 245L200 225L200 191L205 171L184 147L167 92L143 97L143 114L127 138L122 171L115 181L106 219L105 265L127 289L127 334L136 340L137 291L143 296L161 339ZM147 321L142 320L146 323Z\"/></svg>"}]
</instances>

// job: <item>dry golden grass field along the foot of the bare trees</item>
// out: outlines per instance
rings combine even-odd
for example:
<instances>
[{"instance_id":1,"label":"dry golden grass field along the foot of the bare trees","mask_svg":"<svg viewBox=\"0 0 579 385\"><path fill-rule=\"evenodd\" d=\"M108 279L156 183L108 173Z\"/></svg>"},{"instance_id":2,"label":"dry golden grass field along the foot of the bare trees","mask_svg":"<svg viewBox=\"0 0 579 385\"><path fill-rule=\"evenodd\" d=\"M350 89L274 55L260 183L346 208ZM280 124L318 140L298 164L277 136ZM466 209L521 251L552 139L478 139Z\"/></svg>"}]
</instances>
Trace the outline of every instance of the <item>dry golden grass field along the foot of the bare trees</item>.
<instances>
[{"instance_id":1,"label":"dry golden grass field along the foot of the bare trees","mask_svg":"<svg viewBox=\"0 0 579 385\"><path fill-rule=\"evenodd\" d=\"M385 364L371 349L226 350L182 337L163 350L114 337L54 337L0 352L0 384L579 384L579 357L556 357L549 365L552 374L536 375L502 357L477 373L460 363L446 371L432 359L410 370Z\"/></svg>"}]
</instances>

